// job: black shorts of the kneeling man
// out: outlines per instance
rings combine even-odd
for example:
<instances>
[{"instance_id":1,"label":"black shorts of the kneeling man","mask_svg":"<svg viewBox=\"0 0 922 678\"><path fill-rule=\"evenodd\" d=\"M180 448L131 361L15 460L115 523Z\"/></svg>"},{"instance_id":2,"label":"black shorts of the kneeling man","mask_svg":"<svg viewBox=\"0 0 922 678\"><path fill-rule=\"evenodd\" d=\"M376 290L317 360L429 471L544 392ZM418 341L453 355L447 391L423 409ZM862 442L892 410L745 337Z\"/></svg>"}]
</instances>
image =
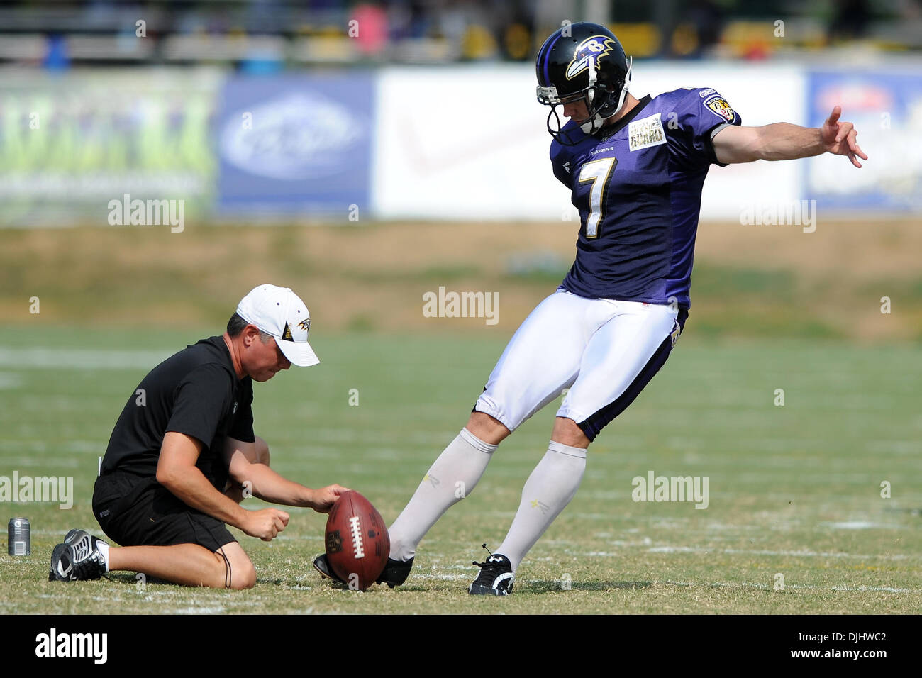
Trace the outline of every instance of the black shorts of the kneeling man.
<instances>
[{"instance_id":1,"label":"black shorts of the kneeling man","mask_svg":"<svg viewBox=\"0 0 922 678\"><path fill-rule=\"evenodd\" d=\"M93 515L122 546L193 543L212 553L237 541L218 518L184 504L156 478L108 473L96 479Z\"/></svg>"}]
</instances>

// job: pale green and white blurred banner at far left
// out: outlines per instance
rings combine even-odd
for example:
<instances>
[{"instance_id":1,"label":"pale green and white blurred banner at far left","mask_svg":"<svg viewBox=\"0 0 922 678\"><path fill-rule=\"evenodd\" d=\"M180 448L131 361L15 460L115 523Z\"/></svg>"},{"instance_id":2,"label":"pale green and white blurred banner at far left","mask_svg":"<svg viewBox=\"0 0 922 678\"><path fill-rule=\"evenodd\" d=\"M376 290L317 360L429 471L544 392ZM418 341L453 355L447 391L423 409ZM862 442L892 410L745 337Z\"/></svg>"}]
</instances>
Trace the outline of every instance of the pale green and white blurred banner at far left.
<instances>
[{"instance_id":1,"label":"pale green and white blurred banner at far left","mask_svg":"<svg viewBox=\"0 0 922 678\"><path fill-rule=\"evenodd\" d=\"M0 225L105 225L112 199L214 205L212 69L0 71Z\"/></svg>"}]
</instances>

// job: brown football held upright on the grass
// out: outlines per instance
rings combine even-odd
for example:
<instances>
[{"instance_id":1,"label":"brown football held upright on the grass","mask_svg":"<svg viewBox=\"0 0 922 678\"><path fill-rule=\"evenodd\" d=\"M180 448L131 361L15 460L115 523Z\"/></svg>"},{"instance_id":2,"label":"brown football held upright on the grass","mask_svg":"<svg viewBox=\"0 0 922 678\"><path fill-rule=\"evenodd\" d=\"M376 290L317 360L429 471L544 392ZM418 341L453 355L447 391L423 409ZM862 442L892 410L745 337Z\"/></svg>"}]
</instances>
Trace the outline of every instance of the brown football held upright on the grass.
<instances>
[{"instance_id":1,"label":"brown football held upright on the grass","mask_svg":"<svg viewBox=\"0 0 922 678\"><path fill-rule=\"evenodd\" d=\"M391 538L378 510L355 490L343 493L330 509L324 535L326 561L349 589L372 586L387 564Z\"/></svg>"}]
</instances>

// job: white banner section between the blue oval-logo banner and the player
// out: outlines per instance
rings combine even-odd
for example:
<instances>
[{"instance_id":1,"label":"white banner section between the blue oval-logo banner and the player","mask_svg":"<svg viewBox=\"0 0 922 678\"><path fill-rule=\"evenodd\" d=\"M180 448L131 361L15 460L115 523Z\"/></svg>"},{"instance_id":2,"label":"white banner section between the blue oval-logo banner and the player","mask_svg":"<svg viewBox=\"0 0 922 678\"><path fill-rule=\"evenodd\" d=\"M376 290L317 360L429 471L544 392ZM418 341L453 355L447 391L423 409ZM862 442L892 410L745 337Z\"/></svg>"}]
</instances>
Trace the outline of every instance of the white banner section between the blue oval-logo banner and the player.
<instances>
[{"instance_id":1,"label":"white banner section between the blue oval-logo banner and the player","mask_svg":"<svg viewBox=\"0 0 922 678\"><path fill-rule=\"evenodd\" d=\"M385 69L375 216L559 220L569 213L568 192L550 172L547 111L534 79L526 65Z\"/></svg>"}]
</instances>

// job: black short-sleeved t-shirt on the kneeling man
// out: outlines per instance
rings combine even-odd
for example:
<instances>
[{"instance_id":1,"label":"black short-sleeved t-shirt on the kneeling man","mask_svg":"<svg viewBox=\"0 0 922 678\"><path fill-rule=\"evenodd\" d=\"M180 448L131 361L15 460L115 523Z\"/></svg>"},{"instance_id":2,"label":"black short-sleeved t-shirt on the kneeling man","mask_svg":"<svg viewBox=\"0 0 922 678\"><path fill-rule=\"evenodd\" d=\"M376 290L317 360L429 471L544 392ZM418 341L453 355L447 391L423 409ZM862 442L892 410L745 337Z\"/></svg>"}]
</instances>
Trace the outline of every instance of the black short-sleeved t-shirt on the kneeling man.
<instances>
[{"instance_id":1,"label":"black short-sleeved t-shirt on the kneeling man","mask_svg":"<svg viewBox=\"0 0 922 678\"><path fill-rule=\"evenodd\" d=\"M152 369L115 422L102 475L127 471L157 475L163 436L169 431L202 442L195 466L219 490L227 482L226 436L251 443L253 380L238 379L222 337L200 339Z\"/></svg>"}]
</instances>

